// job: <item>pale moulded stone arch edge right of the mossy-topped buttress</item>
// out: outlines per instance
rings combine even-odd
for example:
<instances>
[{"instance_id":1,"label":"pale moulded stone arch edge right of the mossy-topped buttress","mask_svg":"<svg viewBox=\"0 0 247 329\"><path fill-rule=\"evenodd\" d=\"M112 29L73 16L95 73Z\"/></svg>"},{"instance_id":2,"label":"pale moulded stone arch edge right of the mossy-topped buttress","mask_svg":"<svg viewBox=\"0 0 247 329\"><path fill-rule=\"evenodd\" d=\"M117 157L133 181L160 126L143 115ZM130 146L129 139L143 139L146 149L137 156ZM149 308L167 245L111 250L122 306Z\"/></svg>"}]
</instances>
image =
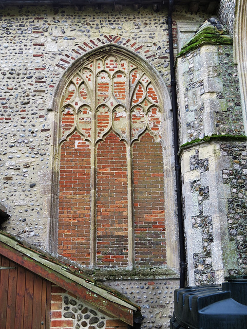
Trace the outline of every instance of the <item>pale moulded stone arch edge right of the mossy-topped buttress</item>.
<instances>
[{"instance_id":1,"label":"pale moulded stone arch edge right of the mossy-topped buttress","mask_svg":"<svg viewBox=\"0 0 247 329\"><path fill-rule=\"evenodd\" d=\"M247 2L236 0L234 25L235 61L238 64L245 134L247 134Z\"/></svg>"}]
</instances>

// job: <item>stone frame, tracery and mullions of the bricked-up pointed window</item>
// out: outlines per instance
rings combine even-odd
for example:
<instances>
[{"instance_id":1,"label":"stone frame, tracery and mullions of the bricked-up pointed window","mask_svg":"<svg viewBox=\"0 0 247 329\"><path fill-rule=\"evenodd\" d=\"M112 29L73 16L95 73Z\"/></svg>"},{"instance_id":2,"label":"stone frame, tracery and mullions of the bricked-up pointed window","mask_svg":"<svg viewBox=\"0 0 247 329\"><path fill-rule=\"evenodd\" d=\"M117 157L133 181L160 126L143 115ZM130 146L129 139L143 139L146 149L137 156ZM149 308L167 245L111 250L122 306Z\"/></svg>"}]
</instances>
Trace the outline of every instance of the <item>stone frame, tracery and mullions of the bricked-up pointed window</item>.
<instances>
[{"instance_id":1,"label":"stone frame, tracery and mullions of the bricked-up pointed window","mask_svg":"<svg viewBox=\"0 0 247 329\"><path fill-rule=\"evenodd\" d=\"M101 73L102 72L102 73ZM98 77L102 76L102 81ZM109 79L110 78L110 79ZM80 81L79 81L80 80ZM100 85L99 85L100 84ZM138 85L141 86L138 90ZM74 88L75 86L75 88ZM77 86L82 87L83 90L78 89ZM81 92L79 96L79 92ZM98 94L97 94L98 93ZM144 95L142 95L144 93ZM90 94L90 95L89 95ZM98 98L97 98L98 97ZM103 101L98 101L99 97ZM121 101L120 99L123 99ZM85 99L90 99L89 102L85 102ZM138 123L139 112L142 112L144 119L142 123ZM53 155L53 168L52 168L52 186L51 196L52 202L50 206L50 251L52 253L58 252L58 194L59 194L59 168L60 168L60 156L61 156L61 131L62 131L62 109L65 106L75 108L76 118L73 120L73 129L69 127L70 139L74 138L73 134L78 134L80 139L85 133L82 132L81 126L78 122L81 121L84 124L86 121L90 124L90 136L87 135L85 142L79 141L79 143L89 143L91 148L93 145L98 145L98 137L104 141L109 134L115 136L121 136L119 139L121 143L124 143L121 148L126 147L126 170L127 170L127 213L128 213L128 227L125 227L123 231L127 230L128 234L128 246L124 247L128 250L128 268L135 267L135 243L134 243L134 197L132 195L132 160L131 160L131 145L136 144L142 140L142 135L150 135L150 140L154 138L154 141L161 143L161 149L163 157L163 173L165 183L162 186L164 192L164 217L165 217L165 240L162 244L166 244L166 256L165 261L158 262L159 266L167 264L169 267L178 268L178 248L177 248L177 222L175 215L175 187L174 187L174 169L173 169L173 138L172 138L172 116L170 114L170 96L168 89L162 80L156 69L125 48L118 45L106 45L89 51L81 58L74 61L74 63L67 68L64 72L59 84L55 88L53 99L50 103L50 110L54 113L54 155ZM82 107L90 108L83 113ZM107 109L102 109L103 125L99 127L97 120L99 116L99 109L105 106ZM124 111L120 111L123 107ZM79 108L81 109L81 117L78 119ZM107 113L109 112L109 114ZM87 112L87 113L86 113ZM135 112L135 120L134 113ZM97 115L98 113L98 115ZM131 114L132 113L132 114ZM105 117L104 117L105 114ZM86 118L83 119L83 115ZM108 120L108 121L107 121ZM145 121L145 123L144 123ZM117 124L117 122L122 122ZM124 127L126 124L126 127ZM66 122L67 124L67 122ZM86 124L86 123L85 123ZM144 126L145 124L145 126ZM112 129L110 128L112 126ZM105 131L104 131L105 129ZM71 131L73 133L71 134ZM86 130L86 128L85 128ZM157 133L157 130L159 133ZM89 131L89 128L87 128ZM100 134L100 132L103 132ZM78 133L77 133L78 132ZM110 133L112 132L112 133ZM116 132L117 135L114 133ZM132 133L131 133L132 132ZM137 132L137 133L136 133ZM132 137L131 137L132 134ZM137 134L137 135L136 135ZM105 137L104 137L105 136ZM153 137L152 137L153 136ZM65 136L66 138L66 136ZM113 138L113 136L111 136ZM115 137L114 137L115 138ZM148 137L149 138L149 137ZM108 138L109 139L109 138ZM101 143L99 141L99 143ZM81 145L81 144L80 144ZM136 146L135 146L136 147ZM96 203L97 186L97 156L96 151L90 153L90 200L91 200L91 212L90 212L90 248L89 258L90 261L86 265L94 267L97 263L96 259L96 211L92 204ZM87 154L88 156L88 154ZM153 155L154 156L154 155ZM120 218L120 217L119 217ZM86 228L84 228L87 230ZM120 234L121 235L121 234ZM75 239L76 240L76 239ZM78 239L79 241L80 239ZM132 241L132 242L131 242ZM165 242L166 241L166 242ZM113 258L113 256L112 256ZM120 263L119 263L120 264Z\"/></svg>"}]
</instances>

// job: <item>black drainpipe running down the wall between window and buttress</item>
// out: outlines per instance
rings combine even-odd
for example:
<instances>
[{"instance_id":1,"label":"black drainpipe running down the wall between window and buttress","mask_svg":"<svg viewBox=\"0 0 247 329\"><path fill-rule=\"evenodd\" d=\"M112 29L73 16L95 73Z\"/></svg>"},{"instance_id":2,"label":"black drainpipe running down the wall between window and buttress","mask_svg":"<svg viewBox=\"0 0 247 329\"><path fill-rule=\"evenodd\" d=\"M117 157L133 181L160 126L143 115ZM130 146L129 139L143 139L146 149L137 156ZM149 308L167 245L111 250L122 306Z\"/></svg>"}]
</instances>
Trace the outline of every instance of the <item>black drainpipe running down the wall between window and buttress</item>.
<instances>
[{"instance_id":1,"label":"black drainpipe running down the wall between window and buttress","mask_svg":"<svg viewBox=\"0 0 247 329\"><path fill-rule=\"evenodd\" d=\"M178 156L179 137L178 137L178 105L176 92L176 77L174 67L173 51L173 12L174 0L169 0L168 11L168 34L169 34L169 54L170 54L170 85L172 87L172 109L173 109L173 130L174 130L174 153L175 153L175 172L176 172L176 189L178 203L178 230L179 230L179 250L180 250L180 288L185 286L185 247L184 247L184 227L183 227L183 209L182 209L182 189L181 189L181 166Z\"/></svg>"}]
</instances>

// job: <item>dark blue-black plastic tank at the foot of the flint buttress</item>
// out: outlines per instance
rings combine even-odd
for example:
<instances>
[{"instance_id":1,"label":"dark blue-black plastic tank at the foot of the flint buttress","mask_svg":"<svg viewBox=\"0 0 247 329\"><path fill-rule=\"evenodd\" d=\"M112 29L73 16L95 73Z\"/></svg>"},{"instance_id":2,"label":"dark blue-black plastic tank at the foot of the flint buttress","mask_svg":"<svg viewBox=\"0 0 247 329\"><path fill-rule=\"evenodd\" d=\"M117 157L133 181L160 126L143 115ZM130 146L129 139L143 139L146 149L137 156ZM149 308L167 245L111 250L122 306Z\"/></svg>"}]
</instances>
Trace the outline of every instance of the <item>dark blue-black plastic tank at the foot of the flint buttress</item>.
<instances>
[{"instance_id":1,"label":"dark blue-black plastic tank at the foot of the flint buttress","mask_svg":"<svg viewBox=\"0 0 247 329\"><path fill-rule=\"evenodd\" d=\"M247 329L247 277L176 289L172 329Z\"/></svg>"}]
</instances>

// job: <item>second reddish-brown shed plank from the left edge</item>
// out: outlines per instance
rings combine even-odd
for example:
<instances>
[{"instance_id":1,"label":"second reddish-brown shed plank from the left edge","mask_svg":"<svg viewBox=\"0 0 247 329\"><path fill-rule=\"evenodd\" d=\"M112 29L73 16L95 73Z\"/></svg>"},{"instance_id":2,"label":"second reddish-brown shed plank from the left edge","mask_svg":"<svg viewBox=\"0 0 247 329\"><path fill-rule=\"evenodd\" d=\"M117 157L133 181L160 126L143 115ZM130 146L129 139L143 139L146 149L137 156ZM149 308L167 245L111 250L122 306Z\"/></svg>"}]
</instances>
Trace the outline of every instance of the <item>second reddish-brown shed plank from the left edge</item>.
<instances>
[{"instance_id":1,"label":"second reddish-brown shed plank from the left edge","mask_svg":"<svg viewBox=\"0 0 247 329\"><path fill-rule=\"evenodd\" d=\"M14 328L13 314L15 314L15 300L16 300L16 284L17 284L17 264L9 262L9 266L16 267L9 270L9 289L8 289L8 304L6 323L8 328Z\"/></svg>"}]
</instances>

